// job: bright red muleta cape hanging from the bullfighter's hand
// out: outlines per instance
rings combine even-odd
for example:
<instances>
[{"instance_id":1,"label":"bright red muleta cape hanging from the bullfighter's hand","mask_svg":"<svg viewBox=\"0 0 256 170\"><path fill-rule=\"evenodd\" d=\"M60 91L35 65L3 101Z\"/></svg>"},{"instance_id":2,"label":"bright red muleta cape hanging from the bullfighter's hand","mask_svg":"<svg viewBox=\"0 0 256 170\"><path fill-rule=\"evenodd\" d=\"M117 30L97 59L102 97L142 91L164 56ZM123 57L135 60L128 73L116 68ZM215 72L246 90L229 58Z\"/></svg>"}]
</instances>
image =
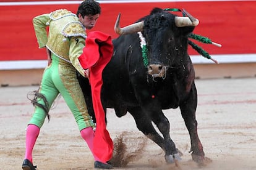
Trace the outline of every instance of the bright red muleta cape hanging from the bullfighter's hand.
<instances>
[{"instance_id":1,"label":"bright red muleta cape hanging from the bullfighter's hand","mask_svg":"<svg viewBox=\"0 0 256 170\"><path fill-rule=\"evenodd\" d=\"M96 117L96 132L93 140L93 153L106 162L113 155L113 140L106 129L105 111L101 104L102 72L113 55L111 36L100 31L88 33L83 54L79 61L84 69L90 69L93 109Z\"/></svg>"}]
</instances>

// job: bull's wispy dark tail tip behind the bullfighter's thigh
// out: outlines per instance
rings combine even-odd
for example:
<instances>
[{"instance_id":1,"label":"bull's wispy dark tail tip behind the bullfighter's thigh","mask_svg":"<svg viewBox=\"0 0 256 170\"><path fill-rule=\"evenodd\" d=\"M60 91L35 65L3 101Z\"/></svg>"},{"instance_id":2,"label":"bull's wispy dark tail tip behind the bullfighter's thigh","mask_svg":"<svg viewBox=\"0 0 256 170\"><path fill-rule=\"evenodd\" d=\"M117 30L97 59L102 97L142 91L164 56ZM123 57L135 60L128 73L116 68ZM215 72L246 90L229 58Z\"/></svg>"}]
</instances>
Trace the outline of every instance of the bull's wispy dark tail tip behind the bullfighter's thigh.
<instances>
[{"instance_id":1,"label":"bull's wispy dark tail tip behind the bullfighter's thigh","mask_svg":"<svg viewBox=\"0 0 256 170\"><path fill-rule=\"evenodd\" d=\"M33 99L30 99L28 96L32 96L32 95L34 97L33 97ZM45 111L45 114L48 118L48 121L49 121L49 117L50 117L49 116L49 103L46 100L45 95L41 94L38 90L36 90L36 91L28 92L27 99L32 102L34 107L37 106L37 107L43 108L43 110ZM45 103L45 105L38 103L38 99L43 99L43 102Z\"/></svg>"}]
</instances>

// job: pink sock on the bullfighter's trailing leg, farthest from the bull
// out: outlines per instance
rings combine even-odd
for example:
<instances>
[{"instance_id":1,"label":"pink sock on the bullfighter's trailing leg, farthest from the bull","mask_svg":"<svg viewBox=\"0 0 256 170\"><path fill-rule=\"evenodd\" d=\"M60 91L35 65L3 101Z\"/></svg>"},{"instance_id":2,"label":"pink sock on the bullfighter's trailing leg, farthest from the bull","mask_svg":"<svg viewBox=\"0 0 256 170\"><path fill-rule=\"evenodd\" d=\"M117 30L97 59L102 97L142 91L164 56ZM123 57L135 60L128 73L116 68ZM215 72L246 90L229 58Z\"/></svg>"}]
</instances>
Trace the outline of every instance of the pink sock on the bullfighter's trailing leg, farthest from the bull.
<instances>
[{"instance_id":1,"label":"pink sock on the bullfighter's trailing leg, farthest from the bull","mask_svg":"<svg viewBox=\"0 0 256 170\"><path fill-rule=\"evenodd\" d=\"M28 124L27 134L26 134L26 152L25 159L28 159L31 163L33 163L32 159L32 151L36 142L36 139L39 135L40 128L35 124Z\"/></svg>"}]
</instances>

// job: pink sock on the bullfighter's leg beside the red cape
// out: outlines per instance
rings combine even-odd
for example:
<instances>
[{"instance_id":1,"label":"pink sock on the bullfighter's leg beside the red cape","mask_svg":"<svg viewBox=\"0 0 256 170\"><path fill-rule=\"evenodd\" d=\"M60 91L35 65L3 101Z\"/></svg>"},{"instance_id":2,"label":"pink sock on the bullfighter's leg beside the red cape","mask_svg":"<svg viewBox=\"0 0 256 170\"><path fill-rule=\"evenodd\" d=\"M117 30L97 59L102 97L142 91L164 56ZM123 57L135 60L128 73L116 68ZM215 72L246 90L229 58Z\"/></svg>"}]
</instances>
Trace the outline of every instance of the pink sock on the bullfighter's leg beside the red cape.
<instances>
[{"instance_id":1,"label":"pink sock on the bullfighter's leg beside the red cape","mask_svg":"<svg viewBox=\"0 0 256 170\"><path fill-rule=\"evenodd\" d=\"M87 145L93 154L94 132L93 132L92 127L87 127L85 129L82 129L82 131L80 131L80 134L81 134L82 138L85 140L85 142L87 142ZM96 157L94 154L93 154L93 157L94 157L95 161L99 161L99 158Z\"/></svg>"}]
</instances>

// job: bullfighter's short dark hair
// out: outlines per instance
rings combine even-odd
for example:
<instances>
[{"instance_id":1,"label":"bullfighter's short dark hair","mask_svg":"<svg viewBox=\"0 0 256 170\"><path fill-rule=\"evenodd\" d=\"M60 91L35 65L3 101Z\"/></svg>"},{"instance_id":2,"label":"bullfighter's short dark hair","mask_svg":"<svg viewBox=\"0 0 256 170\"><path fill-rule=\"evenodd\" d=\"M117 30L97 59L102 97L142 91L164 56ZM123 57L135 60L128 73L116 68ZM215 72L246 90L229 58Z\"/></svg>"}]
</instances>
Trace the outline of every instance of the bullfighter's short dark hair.
<instances>
[{"instance_id":1,"label":"bullfighter's short dark hair","mask_svg":"<svg viewBox=\"0 0 256 170\"><path fill-rule=\"evenodd\" d=\"M101 14L100 3L93 0L83 1L78 7L77 17L79 14L81 14L82 17L85 17L85 15Z\"/></svg>"}]
</instances>

